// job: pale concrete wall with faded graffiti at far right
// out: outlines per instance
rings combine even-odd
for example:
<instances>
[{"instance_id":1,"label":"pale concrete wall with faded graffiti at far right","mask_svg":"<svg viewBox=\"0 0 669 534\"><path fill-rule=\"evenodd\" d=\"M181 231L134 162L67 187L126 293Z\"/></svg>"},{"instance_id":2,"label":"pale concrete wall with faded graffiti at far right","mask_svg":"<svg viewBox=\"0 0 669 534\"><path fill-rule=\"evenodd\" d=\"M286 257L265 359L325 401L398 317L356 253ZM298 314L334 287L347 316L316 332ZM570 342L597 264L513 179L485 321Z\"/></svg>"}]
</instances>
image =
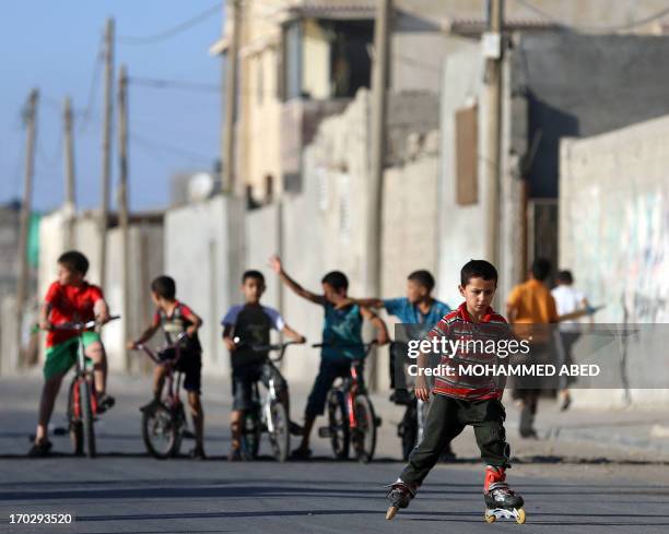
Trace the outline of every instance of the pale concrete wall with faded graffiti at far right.
<instances>
[{"instance_id":1,"label":"pale concrete wall with faded graffiti at far right","mask_svg":"<svg viewBox=\"0 0 669 534\"><path fill-rule=\"evenodd\" d=\"M561 146L560 266L573 271L592 304L606 306L598 322L654 324L609 347L607 363L624 368L632 384L667 373L668 168L669 117ZM669 404L667 389L575 394L592 406Z\"/></svg>"}]
</instances>

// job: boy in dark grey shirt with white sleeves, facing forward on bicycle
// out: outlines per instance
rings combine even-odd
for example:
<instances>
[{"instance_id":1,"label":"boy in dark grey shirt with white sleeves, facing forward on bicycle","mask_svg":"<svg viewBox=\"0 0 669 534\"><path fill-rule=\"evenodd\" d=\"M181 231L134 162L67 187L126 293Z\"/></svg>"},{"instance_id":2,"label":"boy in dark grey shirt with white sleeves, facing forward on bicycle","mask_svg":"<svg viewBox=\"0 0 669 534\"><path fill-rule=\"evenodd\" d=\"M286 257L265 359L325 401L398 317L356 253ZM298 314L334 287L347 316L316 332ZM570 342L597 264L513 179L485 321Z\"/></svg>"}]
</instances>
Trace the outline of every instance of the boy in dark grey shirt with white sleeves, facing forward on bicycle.
<instances>
[{"instance_id":1,"label":"boy in dark grey shirt with white sleeves, facing forward on bicycle","mask_svg":"<svg viewBox=\"0 0 669 534\"><path fill-rule=\"evenodd\" d=\"M270 361L267 352L254 351L253 345L269 345L272 329L284 333L297 343L306 340L291 329L279 311L260 304L265 293L265 276L260 271L249 270L242 276L244 304L227 310L221 320L223 343L232 359L233 411L231 414L232 450L231 461L242 460L240 436L244 412L251 407L254 384L261 380L267 387L274 379L274 388L285 406L290 419L290 395L287 383L279 369ZM291 434L300 435L302 428L289 422Z\"/></svg>"}]
</instances>

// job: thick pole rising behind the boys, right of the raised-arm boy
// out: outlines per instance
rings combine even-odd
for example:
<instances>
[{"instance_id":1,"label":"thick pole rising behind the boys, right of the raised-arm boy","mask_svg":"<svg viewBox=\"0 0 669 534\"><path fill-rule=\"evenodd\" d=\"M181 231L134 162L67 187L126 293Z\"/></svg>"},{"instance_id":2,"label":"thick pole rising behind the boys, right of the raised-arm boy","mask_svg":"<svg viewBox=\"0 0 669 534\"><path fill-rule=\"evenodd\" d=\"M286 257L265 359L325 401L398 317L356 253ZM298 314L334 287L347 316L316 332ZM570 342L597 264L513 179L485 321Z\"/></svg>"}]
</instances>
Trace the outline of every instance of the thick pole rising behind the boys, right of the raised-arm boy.
<instances>
[{"instance_id":1,"label":"thick pole rising behind the boys, right of the raised-arm boy","mask_svg":"<svg viewBox=\"0 0 669 534\"><path fill-rule=\"evenodd\" d=\"M388 58L390 16L392 0L377 0L374 25L374 67L372 78L372 146L369 189L367 197L365 273L366 290L369 295L380 294L382 222L384 207L384 164L386 155L386 111L388 85ZM371 360L371 388L376 389L376 358Z\"/></svg>"}]
</instances>

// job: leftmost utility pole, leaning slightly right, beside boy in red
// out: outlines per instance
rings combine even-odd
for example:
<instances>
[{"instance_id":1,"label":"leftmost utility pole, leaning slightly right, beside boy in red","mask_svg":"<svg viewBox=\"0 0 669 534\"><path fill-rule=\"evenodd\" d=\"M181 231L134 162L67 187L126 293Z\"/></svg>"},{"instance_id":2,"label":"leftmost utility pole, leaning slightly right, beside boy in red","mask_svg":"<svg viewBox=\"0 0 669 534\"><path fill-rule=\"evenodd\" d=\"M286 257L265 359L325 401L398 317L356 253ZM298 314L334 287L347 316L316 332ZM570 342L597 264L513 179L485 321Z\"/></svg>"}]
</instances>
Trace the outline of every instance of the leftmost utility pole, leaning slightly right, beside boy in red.
<instances>
[{"instance_id":1,"label":"leftmost utility pole, leaning slightly right, beside boy in red","mask_svg":"<svg viewBox=\"0 0 669 534\"><path fill-rule=\"evenodd\" d=\"M32 198L33 198L33 171L35 165L35 138L37 135L37 103L39 92L34 88L27 99L24 111L24 120L27 129L25 149L25 175L23 178L23 201L21 202L21 219L19 229L19 285L16 287L16 352L19 361L23 363L22 355L22 331L25 300L28 286L27 264L27 238L31 225Z\"/></svg>"}]
</instances>

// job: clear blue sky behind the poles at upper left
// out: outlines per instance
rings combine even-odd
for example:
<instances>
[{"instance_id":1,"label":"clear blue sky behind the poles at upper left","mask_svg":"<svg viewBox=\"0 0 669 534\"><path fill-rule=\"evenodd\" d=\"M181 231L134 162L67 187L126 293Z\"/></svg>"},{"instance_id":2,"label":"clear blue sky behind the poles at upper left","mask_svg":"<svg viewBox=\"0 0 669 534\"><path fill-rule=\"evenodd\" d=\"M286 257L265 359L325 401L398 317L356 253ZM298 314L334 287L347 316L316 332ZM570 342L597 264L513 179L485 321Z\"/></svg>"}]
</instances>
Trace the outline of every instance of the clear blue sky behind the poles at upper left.
<instances>
[{"instance_id":1,"label":"clear blue sky behind the poles at upper left","mask_svg":"<svg viewBox=\"0 0 669 534\"><path fill-rule=\"evenodd\" d=\"M4 2L0 17L0 203L23 194L22 109L31 90L37 87L34 209L48 212L63 201L61 106L66 95L71 96L75 112L77 204L81 210L98 206L104 91L98 56L108 16L116 22L116 72L125 63L130 78L130 209L164 207L175 173L211 170L220 153L221 60L208 50L221 34L223 2L219 7L216 10L213 0ZM142 44L128 39L163 34L208 10L208 16L166 38ZM145 80L175 81L181 87L141 84ZM117 146L115 131L113 206Z\"/></svg>"}]
</instances>

